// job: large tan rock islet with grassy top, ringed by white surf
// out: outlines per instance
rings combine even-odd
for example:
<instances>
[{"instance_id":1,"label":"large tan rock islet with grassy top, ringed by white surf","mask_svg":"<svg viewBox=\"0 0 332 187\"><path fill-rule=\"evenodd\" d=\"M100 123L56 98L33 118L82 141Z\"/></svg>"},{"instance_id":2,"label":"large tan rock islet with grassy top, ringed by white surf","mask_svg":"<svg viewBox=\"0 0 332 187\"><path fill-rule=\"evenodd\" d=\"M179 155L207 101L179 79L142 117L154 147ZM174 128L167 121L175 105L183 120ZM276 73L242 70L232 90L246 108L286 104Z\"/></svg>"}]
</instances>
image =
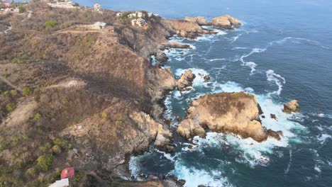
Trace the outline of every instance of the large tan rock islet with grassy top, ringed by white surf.
<instances>
[{"instance_id":1,"label":"large tan rock islet with grassy top, ringed by white surf","mask_svg":"<svg viewBox=\"0 0 332 187\"><path fill-rule=\"evenodd\" d=\"M282 133L262 127L257 100L245 92L207 94L193 101L177 133L186 138L196 135L205 137L205 129L231 132L243 138L252 137L258 142L269 136L280 140Z\"/></svg>"}]
</instances>

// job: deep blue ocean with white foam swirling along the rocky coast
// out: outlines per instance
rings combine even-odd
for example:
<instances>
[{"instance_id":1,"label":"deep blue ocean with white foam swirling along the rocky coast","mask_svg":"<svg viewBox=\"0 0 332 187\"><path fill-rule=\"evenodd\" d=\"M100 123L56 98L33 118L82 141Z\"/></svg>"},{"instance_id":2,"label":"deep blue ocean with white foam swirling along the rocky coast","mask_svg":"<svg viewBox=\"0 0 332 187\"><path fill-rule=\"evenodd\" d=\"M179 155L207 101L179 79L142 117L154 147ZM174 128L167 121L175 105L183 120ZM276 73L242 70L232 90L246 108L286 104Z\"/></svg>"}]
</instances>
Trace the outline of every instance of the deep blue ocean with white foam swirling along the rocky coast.
<instances>
[{"instance_id":1,"label":"deep blue ocean with white foam swirling along the rocky coast","mask_svg":"<svg viewBox=\"0 0 332 187\"><path fill-rule=\"evenodd\" d=\"M172 91L165 118L186 115L191 101L206 93L249 91L258 97L262 125L282 130L281 141L257 143L209 132L193 142L175 137L175 152L155 149L132 157L137 175L173 174L185 186L332 186L332 1L204 0L78 1L115 10L147 10L165 18L230 14L243 26L197 40L171 40L194 50L166 51L166 66L179 77L185 69L212 77L194 81L192 91ZM282 113L297 99L301 112ZM191 146L189 146L191 145ZM190 149L192 147L192 149Z\"/></svg>"}]
</instances>

